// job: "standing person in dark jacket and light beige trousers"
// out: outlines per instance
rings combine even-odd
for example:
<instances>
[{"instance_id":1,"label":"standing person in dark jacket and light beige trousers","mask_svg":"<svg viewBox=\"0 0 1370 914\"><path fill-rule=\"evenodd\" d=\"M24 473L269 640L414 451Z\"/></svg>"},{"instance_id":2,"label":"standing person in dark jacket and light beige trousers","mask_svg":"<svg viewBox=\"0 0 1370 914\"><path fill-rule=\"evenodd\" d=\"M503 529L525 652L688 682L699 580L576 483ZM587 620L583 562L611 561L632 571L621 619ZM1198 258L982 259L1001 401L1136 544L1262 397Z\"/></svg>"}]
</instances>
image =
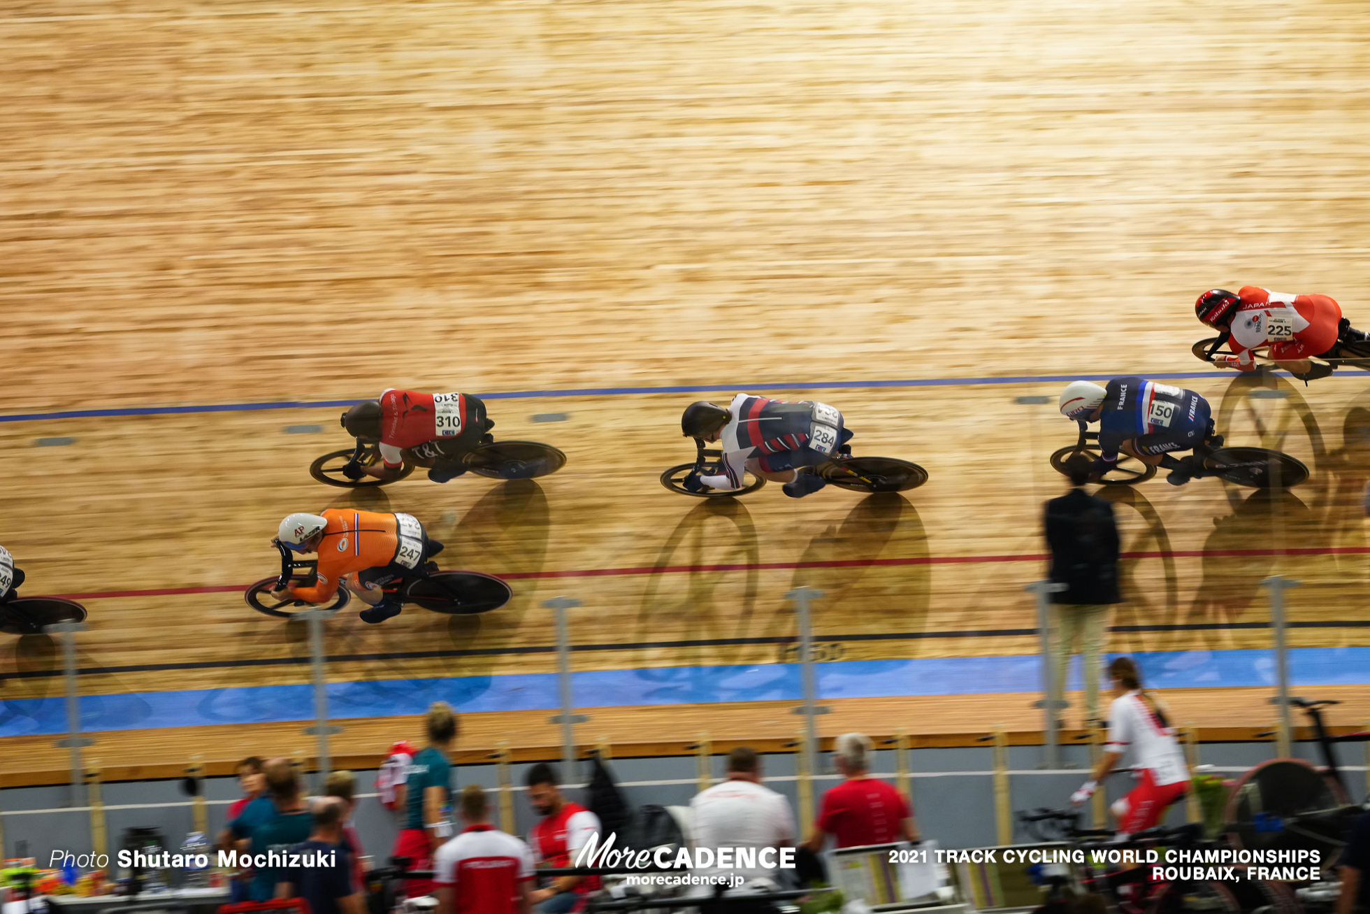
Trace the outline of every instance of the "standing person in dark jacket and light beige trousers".
<instances>
[{"instance_id":1,"label":"standing person in dark jacket and light beige trousers","mask_svg":"<svg viewBox=\"0 0 1370 914\"><path fill-rule=\"evenodd\" d=\"M1078 644L1084 655L1085 721L1099 718L1099 658L1104 647L1108 607L1118 593L1118 525L1112 506L1085 492L1091 465L1075 455L1066 460L1071 489L1047 502L1047 544L1051 580L1067 589L1052 593L1052 665L1058 692Z\"/></svg>"}]
</instances>

